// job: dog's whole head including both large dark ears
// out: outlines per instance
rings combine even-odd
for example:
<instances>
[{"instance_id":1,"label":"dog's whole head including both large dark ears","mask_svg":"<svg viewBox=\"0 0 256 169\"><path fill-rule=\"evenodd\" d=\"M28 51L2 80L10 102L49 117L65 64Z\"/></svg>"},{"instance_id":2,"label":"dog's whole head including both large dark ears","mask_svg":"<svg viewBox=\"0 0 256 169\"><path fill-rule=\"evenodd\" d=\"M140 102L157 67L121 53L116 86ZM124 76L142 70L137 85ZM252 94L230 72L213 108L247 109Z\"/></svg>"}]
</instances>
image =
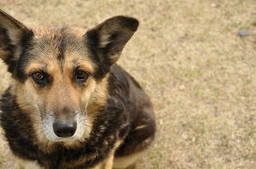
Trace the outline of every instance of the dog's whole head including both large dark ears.
<instances>
[{"instance_id":1,"label":"dog's whole head including both large dark ears","mask_svg":"<svg viewBox=\"0 0 256 169\"><path fill-rule=\"evenodd\" d=\"M41 142L89 136L94 113L106 104L107 74L137 26L136 19L116 16L87 32L32 30L0 11L0 57Z\"/></svg>"}]
</instances>

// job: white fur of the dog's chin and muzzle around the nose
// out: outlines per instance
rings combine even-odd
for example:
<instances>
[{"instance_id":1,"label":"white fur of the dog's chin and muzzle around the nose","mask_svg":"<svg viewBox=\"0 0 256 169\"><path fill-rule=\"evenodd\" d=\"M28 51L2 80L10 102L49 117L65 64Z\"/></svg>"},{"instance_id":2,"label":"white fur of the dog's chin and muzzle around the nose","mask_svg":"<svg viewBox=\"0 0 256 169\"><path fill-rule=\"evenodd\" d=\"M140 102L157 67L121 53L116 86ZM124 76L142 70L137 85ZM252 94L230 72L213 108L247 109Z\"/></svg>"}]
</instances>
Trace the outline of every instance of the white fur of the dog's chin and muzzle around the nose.
<instances>
[{"instance_id":1,"label":"white fur of the dog's chin and muzzle around the nose","mask_svg":"<svg viewBox=\"0 0 256 169\"><path fill-rule=\"evenodd\" d=\"M45 118L42 119L42 125L44 133L48 140L52 142L70 142L70 141L76 141L79 140L85 131L86 126L86 118L82 117L81 115L76 115L76 133L73 136L70 136L68 138L61 138L55 135L53 131L53 123L54 123L54 113L52 112L49 115L46 115Z\"/></svg>"}]
</instances>

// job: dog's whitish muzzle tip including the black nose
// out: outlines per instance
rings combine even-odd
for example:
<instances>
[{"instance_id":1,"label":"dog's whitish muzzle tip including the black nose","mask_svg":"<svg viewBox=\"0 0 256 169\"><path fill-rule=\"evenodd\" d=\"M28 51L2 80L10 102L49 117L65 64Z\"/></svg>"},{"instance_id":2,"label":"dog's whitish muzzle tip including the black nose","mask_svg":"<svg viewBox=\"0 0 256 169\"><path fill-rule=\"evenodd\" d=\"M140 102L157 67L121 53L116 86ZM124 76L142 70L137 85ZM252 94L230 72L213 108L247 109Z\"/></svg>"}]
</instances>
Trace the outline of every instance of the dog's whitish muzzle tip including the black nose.
<instances>
[{"instance_id":1,"label":"dog's whitish muzzle tip including the black nose","mask_svg":"<svg viewBox=\"0 0 256 169\"><path fill-rule=\"evenodd\" d=\"M76 114L74 118L56 120L54 113L42 118L46 138L52 142L76 141L82 138L87 122L86 117Z\"/></svg>"}]
</instances>

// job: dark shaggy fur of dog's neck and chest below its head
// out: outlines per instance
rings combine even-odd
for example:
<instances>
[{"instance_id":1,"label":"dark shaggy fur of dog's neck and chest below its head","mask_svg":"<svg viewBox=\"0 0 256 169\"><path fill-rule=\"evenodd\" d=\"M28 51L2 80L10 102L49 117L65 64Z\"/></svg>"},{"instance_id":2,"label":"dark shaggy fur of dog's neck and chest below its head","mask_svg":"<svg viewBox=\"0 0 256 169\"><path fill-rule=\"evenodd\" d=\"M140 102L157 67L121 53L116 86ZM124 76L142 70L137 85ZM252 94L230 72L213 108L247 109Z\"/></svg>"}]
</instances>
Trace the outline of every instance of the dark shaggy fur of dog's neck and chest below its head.
<instances>
[{"instance_id":1,"label":"dark shaggy fur of dog's neck and chest below its head","mask_svg":"<svg viewBox=\"0 0 256 169\"><path fill-rule=\"evenodd\" d=\"M5 110L8 110L9 106L13 106L14 103L11 102L12 98L10 96L4 99L6 99ZM15 156L37 161L40 166L49 169L95 166L107 158L115 142L121 137L125 137L129 130L124 107L107 106L99 113L87 142L80 143L76 148L64 148L63 145L58 144L48 149L51 150L51 153L45 153L40 150L42 145L34 140L34 131L31 129L32 122L29 118L26 118L19 109L12 112L5 110L3 110L1 121L2 123L13 122L3 123L3 129ZM17 118L20 120L19 123L16 123Z\"/></svg>"}]
</instances>

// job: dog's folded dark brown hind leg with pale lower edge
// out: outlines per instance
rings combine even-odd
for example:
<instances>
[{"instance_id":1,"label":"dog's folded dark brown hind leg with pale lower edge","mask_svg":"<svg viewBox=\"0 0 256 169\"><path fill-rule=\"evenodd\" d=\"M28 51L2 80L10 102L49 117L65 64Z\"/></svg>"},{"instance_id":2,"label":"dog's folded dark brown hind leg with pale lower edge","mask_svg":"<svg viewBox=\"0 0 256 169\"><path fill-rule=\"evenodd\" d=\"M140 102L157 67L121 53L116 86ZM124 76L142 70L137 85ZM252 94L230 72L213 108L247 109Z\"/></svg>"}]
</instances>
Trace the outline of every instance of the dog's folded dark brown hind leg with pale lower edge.
<instances>
[{"instance_id":1,"label":"dog's folded dark brown hind leg with pale lower edge","mask_svg":"<svg viewBox=\"0 0 256 169\"><path fill-rule=\"evenodd\" d=\"M134 169L136 161L149 147L155 136L155 117L150 106L141 107L131 131L118 148L113 160L114 168Z\"/></svg>"}]
</instances>

